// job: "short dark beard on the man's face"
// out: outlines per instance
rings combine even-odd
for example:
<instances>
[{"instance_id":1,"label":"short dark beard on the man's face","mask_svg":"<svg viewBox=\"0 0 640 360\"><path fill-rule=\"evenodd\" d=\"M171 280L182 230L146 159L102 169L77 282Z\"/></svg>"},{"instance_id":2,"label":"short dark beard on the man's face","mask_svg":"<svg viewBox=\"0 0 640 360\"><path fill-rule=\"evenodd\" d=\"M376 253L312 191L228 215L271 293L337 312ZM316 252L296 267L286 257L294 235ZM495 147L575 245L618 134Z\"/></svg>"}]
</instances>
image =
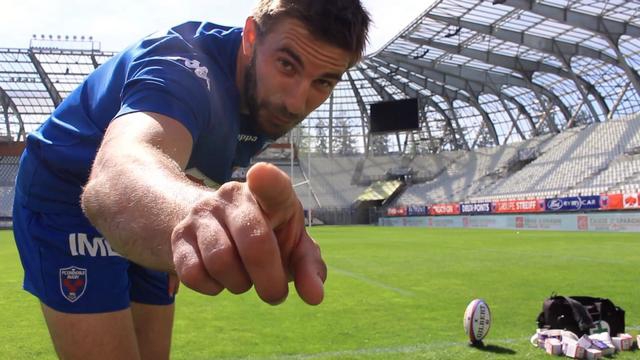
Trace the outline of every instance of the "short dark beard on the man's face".
<instances>
[{"instance_id":1,"label":"short dark beard on the man's face","mask_svg":"<svg viewBox=\"0 0 640 360\"><path fill-rule=\"evenodd\" d=\"M287 128L279 127L277 130L270 130L267 128L268 124L261 123L261 121L268 121L268 119L260 118L261 110L264 110L262 114L263 116L268 116L271 113L280 118L288 120L291 124L298 124L300 121L304 120L304 116L290 113L284 105L275 105L267 100L258 100L258 77L256 76L256 58L257 53L254 53L251 61L245 67L243 88L245 104L249 112L249 119L251 121L253 129L269 136L273 140L277 140L282 135L289 132L289 130L291 130L291 128L293 128L293 126L295 125Z\"/></svg>"}]
</instances>

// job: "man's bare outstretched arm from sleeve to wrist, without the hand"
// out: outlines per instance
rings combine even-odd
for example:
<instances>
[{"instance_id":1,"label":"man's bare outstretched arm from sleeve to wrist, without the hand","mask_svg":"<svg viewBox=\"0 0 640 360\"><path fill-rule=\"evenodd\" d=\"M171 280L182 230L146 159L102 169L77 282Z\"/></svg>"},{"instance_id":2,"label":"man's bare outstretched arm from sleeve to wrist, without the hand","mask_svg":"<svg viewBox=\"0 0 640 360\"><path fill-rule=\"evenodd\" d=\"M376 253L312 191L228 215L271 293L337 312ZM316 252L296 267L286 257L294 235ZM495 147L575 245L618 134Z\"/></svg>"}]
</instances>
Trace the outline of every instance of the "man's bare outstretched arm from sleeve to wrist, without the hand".
<instances>
[{"instance_id":1,"label":"man's bare outstretched arm from sleeve to wrist, without the hand","mask_svg":"<svg viewBox=\"0 0 640 360\"><path fill-rule=\"evenodd\" d=\"M82 208L121 255L173 271L171 232L208 191L182 172L192 144L183 125L160 114L130 113L107 128Z\"/></svg>"}]
</instances>

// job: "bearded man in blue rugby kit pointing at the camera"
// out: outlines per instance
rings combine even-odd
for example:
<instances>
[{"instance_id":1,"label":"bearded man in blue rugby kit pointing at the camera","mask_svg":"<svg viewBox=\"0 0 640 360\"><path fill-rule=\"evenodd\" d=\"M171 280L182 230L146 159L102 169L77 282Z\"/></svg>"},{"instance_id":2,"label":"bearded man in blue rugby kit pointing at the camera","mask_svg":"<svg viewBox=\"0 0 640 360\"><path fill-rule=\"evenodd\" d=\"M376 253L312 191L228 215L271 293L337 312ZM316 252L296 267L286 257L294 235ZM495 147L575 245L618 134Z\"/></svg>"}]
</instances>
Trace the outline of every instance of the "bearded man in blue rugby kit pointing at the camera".
<instances>
[{"instance_id":1,"label":"bearded man in blue rugby kit pointing at the camera","mask_svg":"<svg viewBox=\"0 0 640 360\"><path fill-rule=\"evenodd\" d=\"M169 274L270 304L292 279L322 301L287 176L257 164L225 182L327 99L368 23L358 0L262 0L244 29L185 23L96 69L28 136L14 232L59 357L167 358Z\"/></svg>"}]
</instances>

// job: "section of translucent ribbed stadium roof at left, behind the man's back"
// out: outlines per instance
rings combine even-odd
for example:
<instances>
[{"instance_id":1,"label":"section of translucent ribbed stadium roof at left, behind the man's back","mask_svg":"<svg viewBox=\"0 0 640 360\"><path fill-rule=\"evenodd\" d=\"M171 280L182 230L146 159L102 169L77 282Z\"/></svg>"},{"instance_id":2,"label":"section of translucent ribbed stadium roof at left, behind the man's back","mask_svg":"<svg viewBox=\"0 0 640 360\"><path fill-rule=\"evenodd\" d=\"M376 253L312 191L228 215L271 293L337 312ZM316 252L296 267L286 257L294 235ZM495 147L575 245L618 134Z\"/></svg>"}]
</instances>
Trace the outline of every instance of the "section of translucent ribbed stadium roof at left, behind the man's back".
<instances>
[{"instance_id":1,"label":"section of translucent ribbed stadium roof at left, behind the man's back","mask_svg":"<svg viewBox=\"0 0 640 360\"><path fill-rule=\"evenodd\" d=\"M33 38L0 49L0 139L24 140L93 69L114 53L93 39Z\"/></svg>"}]
</instances>

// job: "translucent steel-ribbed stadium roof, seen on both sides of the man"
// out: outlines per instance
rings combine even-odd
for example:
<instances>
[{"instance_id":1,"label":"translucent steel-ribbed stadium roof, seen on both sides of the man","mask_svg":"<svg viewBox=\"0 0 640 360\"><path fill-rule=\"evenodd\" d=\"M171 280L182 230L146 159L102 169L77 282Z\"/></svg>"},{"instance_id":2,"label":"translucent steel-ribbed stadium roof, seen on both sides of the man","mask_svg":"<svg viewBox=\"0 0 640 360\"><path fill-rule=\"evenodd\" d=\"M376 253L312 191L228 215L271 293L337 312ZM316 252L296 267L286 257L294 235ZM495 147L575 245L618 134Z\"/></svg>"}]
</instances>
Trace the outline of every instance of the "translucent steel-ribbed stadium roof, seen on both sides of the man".
<instances>
[{"instance_id":1,"label":"translucent steel-ribbed stadium roof, seen on both sides of the man","mask_svg":"<svg viewBox=\"0 0 640 360\"><path fill-rule=\"evenodd\" d=\"M37 45L0 49L0 136L32 130L113 55ZM636 1L439 0L349 70L292 139L332 154L505 144L640 112L639 69ZM407 97L420 100L419 131L369 134L369 104Z\"/></svg>"}]
</instances>

